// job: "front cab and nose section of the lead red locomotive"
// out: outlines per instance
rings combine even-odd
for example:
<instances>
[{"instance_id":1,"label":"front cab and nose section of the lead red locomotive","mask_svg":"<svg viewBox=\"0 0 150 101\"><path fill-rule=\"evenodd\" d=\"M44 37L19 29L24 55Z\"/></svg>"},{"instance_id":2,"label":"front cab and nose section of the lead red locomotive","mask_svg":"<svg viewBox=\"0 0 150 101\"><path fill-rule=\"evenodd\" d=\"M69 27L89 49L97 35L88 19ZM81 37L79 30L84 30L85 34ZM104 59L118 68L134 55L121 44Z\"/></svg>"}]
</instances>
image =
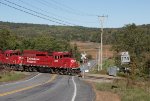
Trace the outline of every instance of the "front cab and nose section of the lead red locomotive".
<instances>
[{"instance_id":1,"label":"front cab and nose section of the lead red locomotive","mask_svg":"<svg viewBox=\"0 0 150 101\"><path fill-rule=\"evenodd\" d=\"M61 74L77 74L80 72L76 59L72 58L70 52L53 52L53 67Z\"/></svg>"}]
</instances>

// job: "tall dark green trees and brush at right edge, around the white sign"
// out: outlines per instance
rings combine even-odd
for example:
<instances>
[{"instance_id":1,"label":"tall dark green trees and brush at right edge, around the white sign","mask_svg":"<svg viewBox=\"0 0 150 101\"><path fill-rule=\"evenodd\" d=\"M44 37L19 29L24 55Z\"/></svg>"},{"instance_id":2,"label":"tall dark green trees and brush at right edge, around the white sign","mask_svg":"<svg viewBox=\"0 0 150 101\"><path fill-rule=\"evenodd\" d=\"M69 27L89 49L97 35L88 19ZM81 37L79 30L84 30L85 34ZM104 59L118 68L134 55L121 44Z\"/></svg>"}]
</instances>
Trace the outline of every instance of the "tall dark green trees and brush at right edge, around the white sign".
<instances>
[{"instance_id":1,"label":"tall dark green trees and brush at right edge, around the white sign","mask_svg":"<svg viewBox=\"0 0 150 101\"><path fill-rule=\"evenodd\" d=\"M112 49L115 51L115 64L131 70L130 79L149 78L150 75L150 31L135 24L126 25L114 34ZM130 63L122 64L121 52L129 52Z\"/></svg>"}]
</instances>

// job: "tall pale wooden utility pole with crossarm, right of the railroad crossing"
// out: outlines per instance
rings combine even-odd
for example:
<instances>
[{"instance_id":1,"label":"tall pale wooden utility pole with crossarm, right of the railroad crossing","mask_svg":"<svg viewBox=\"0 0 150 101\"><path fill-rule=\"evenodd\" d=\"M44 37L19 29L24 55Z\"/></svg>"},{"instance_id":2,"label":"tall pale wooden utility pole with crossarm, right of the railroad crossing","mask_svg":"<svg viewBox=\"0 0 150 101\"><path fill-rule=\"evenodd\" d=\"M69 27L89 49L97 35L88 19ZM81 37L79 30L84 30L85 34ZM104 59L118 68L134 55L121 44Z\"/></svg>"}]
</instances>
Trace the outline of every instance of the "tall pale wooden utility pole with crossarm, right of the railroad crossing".
<instances>
[{"instance_id":1,"label":"tall pale wooden utility pole with crossarm, right of the railroad crossing","mask_svg":"<svg viewBox=\"0 0 150 101\"><path fill-rule=\"evenodd\" d=\"M100 61L101 62L100 70L102 70L103 69L103 67L102 67L103 66L103 23L104 23L105 18L108 16L103 15L103 16L98 16L98 17L100 18L100 23L101 23L101 48L100 48L101 51L99 51L99 54L101 53L101 55L100 55L101 57L99 56L99 58L101 60Z\"/></svg>"}]
</instances>

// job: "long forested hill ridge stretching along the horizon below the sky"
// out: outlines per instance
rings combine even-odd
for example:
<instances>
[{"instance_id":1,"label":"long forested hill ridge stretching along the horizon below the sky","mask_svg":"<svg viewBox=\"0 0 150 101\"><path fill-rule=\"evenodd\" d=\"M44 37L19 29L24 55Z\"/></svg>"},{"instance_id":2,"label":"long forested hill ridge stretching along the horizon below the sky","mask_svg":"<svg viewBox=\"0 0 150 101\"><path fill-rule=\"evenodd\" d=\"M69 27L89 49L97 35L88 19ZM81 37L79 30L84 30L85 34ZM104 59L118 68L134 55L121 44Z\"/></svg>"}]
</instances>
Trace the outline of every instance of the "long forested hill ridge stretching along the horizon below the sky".
<instances>
[{"instance_id":1,"label":"long forested hill ridge stretching along the horizon below the sky","mask_svg":"<svg viewBox=\"0 0 150 101\"><path fill-rule=\"evenodd\" d=\"M140 29L150 32L150 24L138 26ZM11 23L0 21L0 28L6 28L12 33L23 37L35 37L39 34L48 34L57 39L67 41L91 41L100 42L100 28L86 28L81 26L50 26L43 24ZM104 44L111 44L114 41L115 33L122 28L105 28Z\"/></svg>"}]
</instances>

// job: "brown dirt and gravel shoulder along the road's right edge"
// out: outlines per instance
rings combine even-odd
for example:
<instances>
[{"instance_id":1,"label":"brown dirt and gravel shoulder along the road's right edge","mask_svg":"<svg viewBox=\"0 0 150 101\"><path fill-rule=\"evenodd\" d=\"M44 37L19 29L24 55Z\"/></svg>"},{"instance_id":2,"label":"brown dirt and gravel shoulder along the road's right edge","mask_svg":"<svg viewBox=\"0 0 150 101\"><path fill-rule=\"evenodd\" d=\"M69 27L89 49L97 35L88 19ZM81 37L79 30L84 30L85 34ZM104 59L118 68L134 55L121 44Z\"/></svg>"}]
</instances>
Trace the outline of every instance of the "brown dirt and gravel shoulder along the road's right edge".
<instances>
[{"instance_id":1,"label":"brown dirt and gravel shoulder along the road's right edge","mask_svg":"<svg viewBox=\"0 0 150 101\"><path fill-rule=\"evenodd\" d=\"M95 101L121 101L119 95L109 91L99 91L96 88L96 84L112 83L114 79L120 78L107 75L87 74L83 80L93 87L93 90L95 92Z\"/></svg>"}]
</instances>

